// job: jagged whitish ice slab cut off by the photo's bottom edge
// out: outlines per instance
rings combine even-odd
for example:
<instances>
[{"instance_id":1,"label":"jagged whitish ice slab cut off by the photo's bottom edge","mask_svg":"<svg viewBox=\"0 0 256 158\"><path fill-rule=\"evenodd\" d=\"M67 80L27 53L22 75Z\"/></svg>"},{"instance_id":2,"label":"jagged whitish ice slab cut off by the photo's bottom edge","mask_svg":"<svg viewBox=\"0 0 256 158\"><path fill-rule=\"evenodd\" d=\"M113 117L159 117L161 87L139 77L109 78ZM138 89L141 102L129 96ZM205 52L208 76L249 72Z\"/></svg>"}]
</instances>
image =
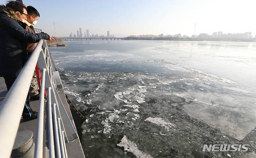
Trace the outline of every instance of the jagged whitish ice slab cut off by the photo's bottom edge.
<instances>
[{"instance_id":1,"label":"jagged whitish ice slab cut off by the photo's bottom edge","mask_svg":"<svg viewBox=\"0 0 256 158\"><path fill-rule=\"evenodd\" d=\"M137 144L127 139L126 136L121 139L121 142L117 144L117 146L124 147L124 154L129 152L132 153L136 158L154 158L153 156L138 149Z\"/></svg>"}]
</instances>

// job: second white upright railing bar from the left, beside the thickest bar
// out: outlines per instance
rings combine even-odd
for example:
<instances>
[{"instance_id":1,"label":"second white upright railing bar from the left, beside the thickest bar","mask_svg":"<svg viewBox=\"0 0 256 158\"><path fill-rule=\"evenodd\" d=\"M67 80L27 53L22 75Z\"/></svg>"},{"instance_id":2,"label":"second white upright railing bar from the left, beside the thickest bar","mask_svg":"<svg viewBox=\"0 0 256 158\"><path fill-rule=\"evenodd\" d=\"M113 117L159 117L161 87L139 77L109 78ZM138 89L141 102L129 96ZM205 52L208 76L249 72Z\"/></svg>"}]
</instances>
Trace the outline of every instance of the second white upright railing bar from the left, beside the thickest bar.
<instances>
[{"instance_id":1,"label":"second white upright railing bar from the left, beside the thickest bar","mask_svg":"<svg viewBox=\"0 0 256 158\"><path fill-rule=\"evenodd\" d=\"M48 136L49 136L49 153L50 158L55 158L54 154L54 138L53 138L53 115L52 115L52 103L51 103L51 87L48 88Z\"/></svg>"}]
</instances>

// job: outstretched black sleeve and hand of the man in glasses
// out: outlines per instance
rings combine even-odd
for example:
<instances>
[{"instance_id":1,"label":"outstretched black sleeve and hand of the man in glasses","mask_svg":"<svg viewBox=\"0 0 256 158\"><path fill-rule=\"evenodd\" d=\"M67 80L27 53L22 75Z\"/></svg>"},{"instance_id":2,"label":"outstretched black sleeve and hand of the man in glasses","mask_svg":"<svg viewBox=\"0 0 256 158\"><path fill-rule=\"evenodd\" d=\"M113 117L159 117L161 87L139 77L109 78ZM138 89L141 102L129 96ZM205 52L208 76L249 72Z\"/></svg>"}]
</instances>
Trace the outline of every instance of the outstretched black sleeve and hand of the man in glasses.
<instances>
[{"instance_id":1,"label":"outstretched black sleeve and hand of the man in glasses","mask_svg":"<svg viewBox=\"0 0 256 158\"><path fill-rule=\"evenodd\" d=\"M40 39L49 39L50 36L47 33L37 33L32 34L29 31L26 31L21 25L11 18L6 18L3 21L5 24L6 30L16 38L25 41L26 43L36 43Z\"/></svg>"}]
</instances>

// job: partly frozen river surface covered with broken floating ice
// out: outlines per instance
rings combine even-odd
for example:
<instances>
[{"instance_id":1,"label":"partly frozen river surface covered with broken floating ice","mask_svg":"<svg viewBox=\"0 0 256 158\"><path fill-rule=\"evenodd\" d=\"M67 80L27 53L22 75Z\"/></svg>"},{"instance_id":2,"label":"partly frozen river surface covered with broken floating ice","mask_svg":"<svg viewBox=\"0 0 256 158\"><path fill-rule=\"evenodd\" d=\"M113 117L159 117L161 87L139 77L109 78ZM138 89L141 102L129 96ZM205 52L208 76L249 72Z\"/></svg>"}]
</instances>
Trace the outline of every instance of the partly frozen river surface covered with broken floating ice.
<instances>
[{"instance_id":1,"label":"partly frozen river surface covered with broken floating ice","mask_svg":"<svg viewBox=\"0 0 256 158\"><path fill-rule=\"evenodd\" d=\"M49 47L86 120L87 158L256 156L256 43L65 41ZM248 144L248 151L203 151Z\"/></svg>"}]
</instances>

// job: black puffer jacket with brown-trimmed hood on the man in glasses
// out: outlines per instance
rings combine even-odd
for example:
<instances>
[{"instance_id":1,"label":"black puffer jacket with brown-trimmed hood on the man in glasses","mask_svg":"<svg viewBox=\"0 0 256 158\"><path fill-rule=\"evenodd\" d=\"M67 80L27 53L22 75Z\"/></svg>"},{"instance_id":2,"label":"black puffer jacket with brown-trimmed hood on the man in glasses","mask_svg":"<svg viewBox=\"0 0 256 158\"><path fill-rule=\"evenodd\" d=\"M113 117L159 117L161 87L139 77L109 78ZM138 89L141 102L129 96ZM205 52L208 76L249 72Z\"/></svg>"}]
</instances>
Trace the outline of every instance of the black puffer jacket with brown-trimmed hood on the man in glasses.
<instances>
[{"instance_id":1,"label":"black puffer jacket with brown-trimmed hood on the man in glasses","mask_svg":"<svg viewBox=\"0 0 256 158\"><path fill-rule=\"evenodd\" d=\"M0 5L0 76L18 76L25 64L27 43L49 38L46 33L26 31L15 12Z\"/></svg>"}]
</instances>

